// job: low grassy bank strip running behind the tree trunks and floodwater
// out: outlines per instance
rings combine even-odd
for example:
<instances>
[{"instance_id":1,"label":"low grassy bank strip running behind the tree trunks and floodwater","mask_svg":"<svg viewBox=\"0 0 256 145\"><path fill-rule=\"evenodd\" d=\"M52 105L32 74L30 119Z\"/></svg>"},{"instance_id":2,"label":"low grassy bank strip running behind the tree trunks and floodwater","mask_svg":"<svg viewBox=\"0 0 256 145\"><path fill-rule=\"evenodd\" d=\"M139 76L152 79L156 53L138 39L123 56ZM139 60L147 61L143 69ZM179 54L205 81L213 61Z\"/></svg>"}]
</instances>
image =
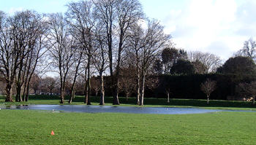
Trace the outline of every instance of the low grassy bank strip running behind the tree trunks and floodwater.
<instances>
[{"instance_id":1,"label":"low grassy bank strip running behind the tree trunks and floodwater","mask_svg":"<svg viewBox=\"0 0 256 145\"><path fill-rule=\"evenodd\" d=\"M65 99L68 99L67 96ZM73 105L84 105L83 103L84 97L78 95L75 97L74 101L71 103ZM105 105L112 105L113 98L105 97ZM137 106L135 105L136 99L129 98L126 101L125 98L120 97L119 101L121 106ZM67 103L68 100L65 101L64 104ZM13 103L5 103L4 96L0 96L0 104L59 104L58 96L50 96L50 95L30 95L29 102L13 102ZM99 97L91 97L92 105L99 105ZM145 106L151 107L202 107L206 109L236 109L236 110L254 110L256 111L256 105L253 105L252 102L244 102L244 101L216 101L211 100L209 104L206 103L206 100L195 100L195 99L170 99L170 103L167 103L165 98L145 98L144 100Z\"/></svg>"}]
</instances>

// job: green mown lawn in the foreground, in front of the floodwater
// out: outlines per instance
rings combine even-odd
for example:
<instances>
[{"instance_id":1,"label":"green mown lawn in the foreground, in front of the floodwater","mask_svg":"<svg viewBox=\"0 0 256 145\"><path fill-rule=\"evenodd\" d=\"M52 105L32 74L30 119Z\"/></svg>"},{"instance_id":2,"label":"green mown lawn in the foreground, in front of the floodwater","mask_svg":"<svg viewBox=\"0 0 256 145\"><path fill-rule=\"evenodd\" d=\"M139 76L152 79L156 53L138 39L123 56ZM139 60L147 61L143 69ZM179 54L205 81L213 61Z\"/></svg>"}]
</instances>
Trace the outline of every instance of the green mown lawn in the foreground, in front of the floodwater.
<instances>
[{"instance_id":1,"label":"green mown lawn in the foreground, in front of the floodwater","mask_svg":"<svg viewBox=\"0 0 256 145\"><path fill-rule=\"evenodd\" d=\"M160 115L2 109L0 115L0 144L256 144L255 112Z\"/></svg>"}]
</instances>

